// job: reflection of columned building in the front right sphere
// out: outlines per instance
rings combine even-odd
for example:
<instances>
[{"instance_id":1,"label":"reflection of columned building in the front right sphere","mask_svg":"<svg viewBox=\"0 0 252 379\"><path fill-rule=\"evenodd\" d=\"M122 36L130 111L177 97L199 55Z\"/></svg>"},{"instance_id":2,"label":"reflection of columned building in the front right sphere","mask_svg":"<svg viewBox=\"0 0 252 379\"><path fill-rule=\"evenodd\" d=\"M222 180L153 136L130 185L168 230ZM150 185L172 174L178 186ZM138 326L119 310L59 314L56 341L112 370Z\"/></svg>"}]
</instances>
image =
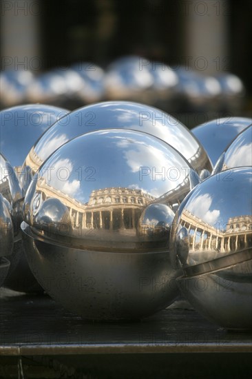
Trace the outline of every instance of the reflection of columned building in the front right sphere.
<instances>
[{"instance_id":1,"label":"reflection of columned building in the front right sphere","mask_svg":"<svg viewBox=\"0 0 252 379\"><path fill-rule=\"evenodd\" d=\"M216 250L224 253L252 245L252 216L231 217L227 225L216 223L213 227L184 209L180 225L187 228L191 252Z\"/></svg>"}]
</instances>

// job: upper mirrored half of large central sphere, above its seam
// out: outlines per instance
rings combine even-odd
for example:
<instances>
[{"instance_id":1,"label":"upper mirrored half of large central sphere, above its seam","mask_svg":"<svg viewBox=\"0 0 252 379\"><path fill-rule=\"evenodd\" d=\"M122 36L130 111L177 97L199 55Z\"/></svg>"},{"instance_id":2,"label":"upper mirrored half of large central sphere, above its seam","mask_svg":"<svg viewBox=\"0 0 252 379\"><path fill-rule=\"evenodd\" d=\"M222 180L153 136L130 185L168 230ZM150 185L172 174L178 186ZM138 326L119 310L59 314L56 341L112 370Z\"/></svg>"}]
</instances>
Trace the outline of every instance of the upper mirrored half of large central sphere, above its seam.
<instances>
[{"instance_id":1,"label":"upper mirrored half of large central sphere, above its seam","mask_svg":"<svg viewBox=\"0 0 252 379\"><path fill-rule=\"evenodd\" d=\"M173 212L158 204L177 209L191 189L192 174L198 178L173 147L149 134L84 134L41 165L25 196L24 220L44 237L61 243L65 237L71 246L155 249L155 233L152 239L137 233L143 210L155 203L149 211L156 209L157 222L170 222Z\"/></svg>"}]
</instances>

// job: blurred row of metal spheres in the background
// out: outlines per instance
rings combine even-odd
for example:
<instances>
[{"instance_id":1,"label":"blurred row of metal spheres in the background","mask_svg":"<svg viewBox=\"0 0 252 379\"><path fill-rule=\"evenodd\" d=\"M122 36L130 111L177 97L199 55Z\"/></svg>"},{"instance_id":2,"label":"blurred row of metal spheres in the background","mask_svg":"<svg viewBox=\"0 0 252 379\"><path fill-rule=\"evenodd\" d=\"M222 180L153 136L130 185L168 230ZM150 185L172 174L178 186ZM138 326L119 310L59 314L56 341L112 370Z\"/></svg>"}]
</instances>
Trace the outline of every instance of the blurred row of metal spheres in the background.
<instances>
[{"instance_id":1,"label":"blurred row of metal spheres in the background","mask_svg":"<svg viewBox=\"0 0 252 379\"><path fill-rule=\"evenodd\" d=\"M167 112L233 112L244 99L244 85L234 74L206 76L204 70L138 56L116 59L106 70L79 62L36 74L38 63L1 72L3 107L39 102L75 109L96 101L134 100Z\"/></svg>"}]
</instances>

